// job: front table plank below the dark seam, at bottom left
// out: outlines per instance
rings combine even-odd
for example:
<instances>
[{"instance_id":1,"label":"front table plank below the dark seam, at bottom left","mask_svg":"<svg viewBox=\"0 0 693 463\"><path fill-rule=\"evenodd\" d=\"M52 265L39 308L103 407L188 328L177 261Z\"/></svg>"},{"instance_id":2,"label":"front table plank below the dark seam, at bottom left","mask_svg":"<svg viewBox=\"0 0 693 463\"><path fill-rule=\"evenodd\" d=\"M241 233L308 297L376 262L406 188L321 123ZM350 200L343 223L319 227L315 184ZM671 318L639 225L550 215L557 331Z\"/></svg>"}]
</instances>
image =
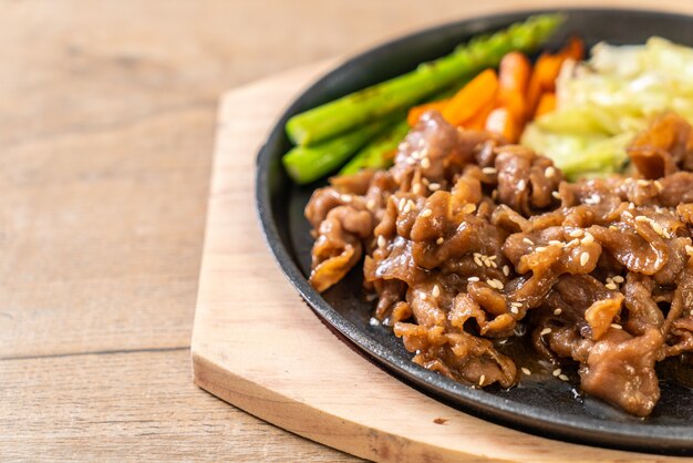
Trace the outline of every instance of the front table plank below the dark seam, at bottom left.
<instances>
[{"instance_id":1,"label":"front table plank below the dark seam, at bottom left","mask_svg":"<svg viewBox=\"0 0 693 463\"><path fill-rule=\"evenodd\" d=\"M188 349L8 360L0 378L3 462L354 460L200 391Z\"/></svg>"}]
</instances>

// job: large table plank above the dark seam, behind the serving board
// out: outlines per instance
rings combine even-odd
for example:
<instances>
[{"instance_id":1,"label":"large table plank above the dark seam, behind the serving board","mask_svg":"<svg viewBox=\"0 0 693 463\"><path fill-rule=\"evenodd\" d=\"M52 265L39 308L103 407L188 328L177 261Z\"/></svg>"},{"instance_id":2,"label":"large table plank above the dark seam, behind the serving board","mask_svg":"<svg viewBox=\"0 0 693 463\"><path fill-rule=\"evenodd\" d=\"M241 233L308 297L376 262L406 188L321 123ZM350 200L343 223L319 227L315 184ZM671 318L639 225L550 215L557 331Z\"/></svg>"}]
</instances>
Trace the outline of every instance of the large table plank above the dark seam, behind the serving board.
<instances>
[{"instance_id":1,"label":"large table plank above the dark seam, behind the serving board","mask_svg":"<svg viewBox=\"0 0 693 463\"><path fill-rule=\"evenodd\" d=\"M509 4L0 3L0 356L187 344L217 96Z\"/></svg>"}]
</instances>

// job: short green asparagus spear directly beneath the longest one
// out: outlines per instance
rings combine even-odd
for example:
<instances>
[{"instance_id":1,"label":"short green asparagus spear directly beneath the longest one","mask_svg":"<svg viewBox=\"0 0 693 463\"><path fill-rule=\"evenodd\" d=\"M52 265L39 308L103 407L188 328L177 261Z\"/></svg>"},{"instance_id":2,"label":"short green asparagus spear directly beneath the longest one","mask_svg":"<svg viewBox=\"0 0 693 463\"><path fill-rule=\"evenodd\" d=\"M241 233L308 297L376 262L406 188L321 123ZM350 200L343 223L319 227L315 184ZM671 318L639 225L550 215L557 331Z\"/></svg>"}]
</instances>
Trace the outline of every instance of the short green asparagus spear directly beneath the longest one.
<instances>
[{"instance_id":1,"label":"short green asparagus spear directly beneath the longest one","mask_svg":"<svg viewBox=\"0 0 693 463\"><path fill-rule=\"evenodd\" d=\"M383 117L312 146L294 146L281 161L289 176L299 185L314 182L344 164L356 150L392 122L392 117Z\"/></svg>"}]
</instances>

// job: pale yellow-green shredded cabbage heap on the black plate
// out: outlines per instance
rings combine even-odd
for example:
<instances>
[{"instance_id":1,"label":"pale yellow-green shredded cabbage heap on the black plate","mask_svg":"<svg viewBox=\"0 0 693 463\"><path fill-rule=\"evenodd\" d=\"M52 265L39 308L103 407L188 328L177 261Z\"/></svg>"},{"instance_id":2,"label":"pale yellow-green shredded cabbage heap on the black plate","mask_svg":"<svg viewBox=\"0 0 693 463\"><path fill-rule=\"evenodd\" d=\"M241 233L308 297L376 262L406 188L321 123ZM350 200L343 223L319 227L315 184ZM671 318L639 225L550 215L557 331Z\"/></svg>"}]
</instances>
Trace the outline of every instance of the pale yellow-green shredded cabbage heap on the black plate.
<instances>
[{"instance_id":1,"label":"pale yellow-green shredded cabbage heap on the black plate","mask_svg":"<svg viewBox=\"0 0 693 463\"><path fill-rule=\"evenodd\" d=\"M529 124L521 144L569 178L619 172L625 146L656 114L673 110L693 123L693 49L659 37L599 43L588 62L563 64L556 89L556 111Z\"/></svg>"}]
</instances>

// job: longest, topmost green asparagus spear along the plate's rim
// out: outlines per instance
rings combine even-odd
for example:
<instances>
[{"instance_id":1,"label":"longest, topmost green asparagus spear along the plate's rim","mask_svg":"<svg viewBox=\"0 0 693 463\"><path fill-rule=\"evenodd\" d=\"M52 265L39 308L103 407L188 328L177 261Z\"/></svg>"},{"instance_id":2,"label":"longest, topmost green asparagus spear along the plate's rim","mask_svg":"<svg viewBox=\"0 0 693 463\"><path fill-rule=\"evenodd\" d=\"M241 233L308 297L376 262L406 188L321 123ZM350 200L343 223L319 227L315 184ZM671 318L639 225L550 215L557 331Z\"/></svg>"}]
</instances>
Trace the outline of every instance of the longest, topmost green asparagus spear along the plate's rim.
<instances>
[{"instance_id":1,"label":"longest, topmost green asparagus spear along the plate's rim","mask_svg":"<svg viewBox=\"0 0 693 463\"><path fill-rule=\"evenodd\" d=\"M561 14L539 14L473 39L466 47L410 73L294 115L287 123L287 133L296 144L309 145L410 106L457 79L497 65L510 51L535 50L562 21Z\"/></svg>"}]
</instances>

